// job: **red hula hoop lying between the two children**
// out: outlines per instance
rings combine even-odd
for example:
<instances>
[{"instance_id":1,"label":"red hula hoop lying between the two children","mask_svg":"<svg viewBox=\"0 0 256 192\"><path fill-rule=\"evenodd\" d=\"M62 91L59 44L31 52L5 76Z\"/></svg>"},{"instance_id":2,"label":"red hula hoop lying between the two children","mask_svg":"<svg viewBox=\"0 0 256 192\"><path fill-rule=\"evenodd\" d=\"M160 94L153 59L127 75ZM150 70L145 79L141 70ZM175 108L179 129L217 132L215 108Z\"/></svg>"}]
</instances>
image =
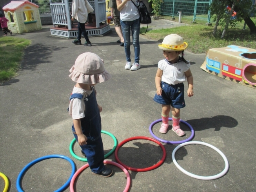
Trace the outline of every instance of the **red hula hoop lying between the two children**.
<instances>
[{"instance_id":1,"label":"red hula hoop lying between the two children","mask_svg":"<svg viewBox=\"0 0 256 192\"><path fill-rule=\"evenodd\" d=\"M133 140L137 140L137 139L144 139L144 140L149 140L149 141L153 141L154 143L158 144L162 150L163 150L163 157L162 159L156 163L156 165L153 165L151 167L146 167L146 168L133 168L133 167L129 167L125 164L123 164L119 158L118 158L118 150L120 147L122 147L125 143L129 142L129 141L133 141ZM115 150L115 158L116 158L116 161L120 164L120 165L123 165L123 167L125 167L126 169L128 170L131 170L131 171L136 171L136 172L144 172L144 171L151 171L157 167L160 167L160 165L163 164L164 160L165 160L165 157L166 157L166 150L165 148L163 147L162 143L160 143L159 141L157 141L156 139L152 139L152 138L149 138L149 137L144 137L144 136L137 136L137 137L131 137L131 138L128 138L128 139L125 139L123 140L121 143L118 144L118 146L116 147L116 150Z\"/></svg>"}]
</instances>

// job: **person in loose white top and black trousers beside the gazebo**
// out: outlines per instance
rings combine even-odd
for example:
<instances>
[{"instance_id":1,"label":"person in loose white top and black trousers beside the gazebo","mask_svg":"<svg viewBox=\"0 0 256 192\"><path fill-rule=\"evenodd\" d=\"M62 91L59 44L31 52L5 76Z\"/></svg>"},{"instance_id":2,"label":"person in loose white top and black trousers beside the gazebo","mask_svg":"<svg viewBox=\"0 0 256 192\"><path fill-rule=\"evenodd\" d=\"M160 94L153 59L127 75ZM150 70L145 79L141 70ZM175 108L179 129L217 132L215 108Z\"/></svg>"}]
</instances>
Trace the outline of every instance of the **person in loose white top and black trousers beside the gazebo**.
<instances>
[{"instance_id":1,"label":"person in loose white top and black trousers beside the gazebo","mask_svg":"<svg viewBox=\"0 0 256 192\"><path fill-rule=\"evenodd\" d=\"M84 35L85 38L85 43L84 46L89 46L91 47L92 44L88 38L87 32L85 30L85 23L87 20L88 12L87 12L87 7L86 7L86 0L73 0L72 4L72 21L76 19L78 21L78 35L76 40L74 40L72 43L76 45L82 45L81 43L81 37L82 34ZM89 3L88 3L89 4ZM89 6L89 5L87 5Z\"/></svg>"}]
</instances>

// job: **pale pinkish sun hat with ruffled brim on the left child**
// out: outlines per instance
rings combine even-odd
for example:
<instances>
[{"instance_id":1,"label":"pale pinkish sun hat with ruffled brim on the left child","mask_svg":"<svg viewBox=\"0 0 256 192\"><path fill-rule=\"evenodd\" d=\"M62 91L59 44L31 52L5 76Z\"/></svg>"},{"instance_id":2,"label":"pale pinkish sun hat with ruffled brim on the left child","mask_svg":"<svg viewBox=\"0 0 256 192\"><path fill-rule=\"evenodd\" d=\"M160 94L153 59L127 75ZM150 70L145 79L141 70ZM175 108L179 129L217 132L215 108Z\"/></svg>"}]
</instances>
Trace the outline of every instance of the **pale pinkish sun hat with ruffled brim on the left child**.
<instances>
[{"instance_id":1,"label":"pale pinkish sun hat with ruffled brim on the left child","mask_svg":"<svg viewBox=\"0 0 256 192\"><path fill-rule=\"evenodd\" d=\"M69 77L76 83L95 84L111 78L105 70L103 60L90 52L80 54L69 72Z\"/></svg>"}]
</instances>

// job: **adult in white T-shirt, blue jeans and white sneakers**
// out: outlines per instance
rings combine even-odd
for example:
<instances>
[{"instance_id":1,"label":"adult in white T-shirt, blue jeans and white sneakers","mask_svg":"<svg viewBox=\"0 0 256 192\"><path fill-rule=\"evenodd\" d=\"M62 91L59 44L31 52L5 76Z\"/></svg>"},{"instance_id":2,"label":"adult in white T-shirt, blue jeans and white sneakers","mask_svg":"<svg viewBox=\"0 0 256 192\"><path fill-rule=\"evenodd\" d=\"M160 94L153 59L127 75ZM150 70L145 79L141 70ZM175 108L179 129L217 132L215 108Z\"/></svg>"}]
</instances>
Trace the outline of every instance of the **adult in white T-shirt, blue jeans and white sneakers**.
<instances>
[{"instance_id":1,"label":"adult in white T-shirt, blue jeans and white sneakers","mask_svg":"<svg viewBox=\"0 0 256 192\"><path fill-rule=\"evenodd\" d=\"M118 11L120 11L120 23L123 31L124 38L124 49L126 54L125 69L131 69L136 71L140 69L140 14L138 8L135 5L139 5L138 0L116 0ZM133 36L133 47L134 47L134 63L131 65L131 51L130 51L130 30Z\"/></svg>"}]
</instances>

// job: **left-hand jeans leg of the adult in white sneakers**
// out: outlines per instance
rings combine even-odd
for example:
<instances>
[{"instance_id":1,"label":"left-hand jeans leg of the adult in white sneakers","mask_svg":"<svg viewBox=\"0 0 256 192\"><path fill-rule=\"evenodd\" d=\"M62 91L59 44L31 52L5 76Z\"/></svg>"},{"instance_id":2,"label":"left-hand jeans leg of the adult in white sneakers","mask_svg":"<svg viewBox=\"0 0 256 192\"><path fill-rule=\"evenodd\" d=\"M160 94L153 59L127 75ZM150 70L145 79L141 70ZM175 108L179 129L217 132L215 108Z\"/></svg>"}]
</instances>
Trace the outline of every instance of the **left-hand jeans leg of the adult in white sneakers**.
<instances>
[{"instance_id":1,"label":"left-hand jeans leg of the adult in white sneakers","mask_svg":"<svg viewBox=\"0 0 256 192\"><path fill-rule=\"evenodd\" d=\"M130 50L130 30L131 26L129 21L122 21L120 20L123 32L123 39L124 39L124 51L126 54L126 61L131 62L131 50Z\"/></svg>"}]
</instances>

